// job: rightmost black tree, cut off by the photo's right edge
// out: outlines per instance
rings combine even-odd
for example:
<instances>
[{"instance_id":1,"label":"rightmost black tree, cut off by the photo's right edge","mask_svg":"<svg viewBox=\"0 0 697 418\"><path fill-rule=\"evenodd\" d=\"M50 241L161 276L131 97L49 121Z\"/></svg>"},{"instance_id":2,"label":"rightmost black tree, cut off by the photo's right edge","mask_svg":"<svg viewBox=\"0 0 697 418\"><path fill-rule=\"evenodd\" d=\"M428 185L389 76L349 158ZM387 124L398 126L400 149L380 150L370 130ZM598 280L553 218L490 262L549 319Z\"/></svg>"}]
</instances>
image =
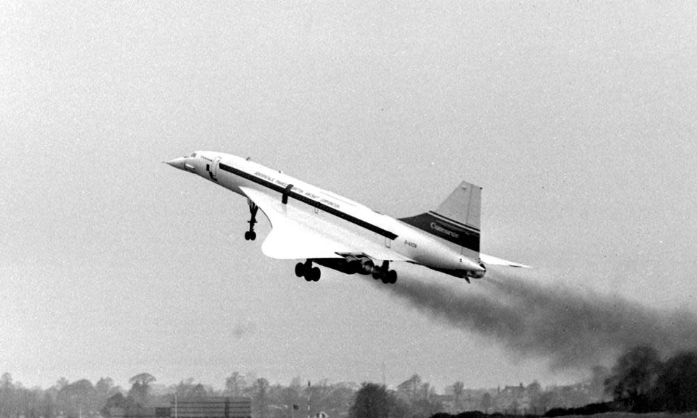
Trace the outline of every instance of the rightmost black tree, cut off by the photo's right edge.
<instances>
[{"instance_id":1,"label":"rightmost black tree, cut off by the photo's right edge","mask_svg":"<svg viewBox=\"0 0 697 418\"><path fill-rule=\"evenodd\" d=\"M651 397L657 409L697 410L697 352L681 353L668 360Z\"/></svg>"}]
</instances>

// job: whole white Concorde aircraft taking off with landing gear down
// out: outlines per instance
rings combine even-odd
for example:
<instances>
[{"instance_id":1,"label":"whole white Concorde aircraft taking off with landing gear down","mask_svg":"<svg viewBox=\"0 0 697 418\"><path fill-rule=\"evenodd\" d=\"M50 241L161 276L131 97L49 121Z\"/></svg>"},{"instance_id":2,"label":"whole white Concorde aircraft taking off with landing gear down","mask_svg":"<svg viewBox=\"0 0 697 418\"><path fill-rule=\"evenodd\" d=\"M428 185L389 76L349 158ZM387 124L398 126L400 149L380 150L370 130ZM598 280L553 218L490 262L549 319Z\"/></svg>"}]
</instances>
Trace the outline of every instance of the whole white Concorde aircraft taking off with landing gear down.
<instances>
[{"instance_id":1,"label":"whole white Concorde aircraft taking off with landing gear down","mask_svg":"<svg viewBox=\"0 0 697 418\"><path fill-rule=\"evenodd\" d=\"M487 265L528 267L480 254L482 188L464 181L436 210L395 219L249 158L196 151L167 164L245 196L250 206L246 240L256 239L254 224L261 209L272 228L261 251L272 258L305 260L295 272L307 281L319 280L314 264L372 274L385 284L397 281L397 272L390 269L395 261L468 282L484 277Z\"/></svg>"}]
</instances>

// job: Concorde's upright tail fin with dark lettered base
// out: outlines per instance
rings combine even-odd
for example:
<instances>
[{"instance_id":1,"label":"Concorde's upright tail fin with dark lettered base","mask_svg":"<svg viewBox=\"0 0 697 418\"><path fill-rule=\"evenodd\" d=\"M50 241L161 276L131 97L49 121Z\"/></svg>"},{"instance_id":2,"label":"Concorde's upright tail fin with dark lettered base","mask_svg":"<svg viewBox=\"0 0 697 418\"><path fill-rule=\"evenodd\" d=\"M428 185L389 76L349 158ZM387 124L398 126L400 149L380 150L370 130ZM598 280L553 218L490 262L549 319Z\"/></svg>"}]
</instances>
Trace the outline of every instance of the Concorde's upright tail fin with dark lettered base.
<instances>
[{"instance_id":1,"label":"Concorde's upright tail fin with dark lettered base","mask_svg":"<svg viewBox=\"0 0 697 418\"><path fill-rule=\"evenodd\" d=\"M438 209L399 220L476 259L480 251L481 210L482 187L464 181Z\"/></svg>"}]
</instances>

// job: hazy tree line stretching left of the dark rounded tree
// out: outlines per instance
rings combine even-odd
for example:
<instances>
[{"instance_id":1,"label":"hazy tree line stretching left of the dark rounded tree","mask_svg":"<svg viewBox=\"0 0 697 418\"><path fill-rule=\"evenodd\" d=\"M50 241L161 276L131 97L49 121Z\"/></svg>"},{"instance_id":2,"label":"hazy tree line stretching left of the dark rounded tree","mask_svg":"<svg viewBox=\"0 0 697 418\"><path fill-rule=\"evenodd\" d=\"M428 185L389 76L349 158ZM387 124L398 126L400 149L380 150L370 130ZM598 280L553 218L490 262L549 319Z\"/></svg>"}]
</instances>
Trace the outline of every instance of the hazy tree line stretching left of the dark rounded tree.
<instances>
[{"instance_id":1,"label":"hazy tree line stretching left of the dark rounded tree","mask_svg":"<svg viewBox=\"0 0 697 418\"><path fill-rule=\"evenodd\" d=\"M324 411L331 417L346 415L358 386L339 382L329 384L320 380L303 385L294 378L288 386L271 385L266 378L244 376L234 372L225 380L224 389L181 380L176 385L162 387L149 373L139 373L129 380L130 388L114 385L112 378L100 378L96 384L81 379L68 382L60 378L48 389L26 388L13 382L10 373L0 378L0 418L109 418L114 408L127 415L148 415L148 408L169 405L175 396L206 398L210 396L245 396L252 400L255 418L288 418Z\"/></svg>"}]
</instances>

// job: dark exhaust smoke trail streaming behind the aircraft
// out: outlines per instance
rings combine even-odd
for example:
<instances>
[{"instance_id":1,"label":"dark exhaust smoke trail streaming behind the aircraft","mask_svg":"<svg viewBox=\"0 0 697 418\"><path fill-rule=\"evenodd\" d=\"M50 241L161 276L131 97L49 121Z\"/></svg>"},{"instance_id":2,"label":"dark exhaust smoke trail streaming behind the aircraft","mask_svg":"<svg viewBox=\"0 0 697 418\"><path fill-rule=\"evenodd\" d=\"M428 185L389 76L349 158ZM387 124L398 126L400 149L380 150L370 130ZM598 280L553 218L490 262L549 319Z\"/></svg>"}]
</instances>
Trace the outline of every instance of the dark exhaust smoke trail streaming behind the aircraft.
<instances>
[{"instance_id":1,"label":"dark exhaust smoke trail streaming behind the aircraft","mask_svg":"<svg viewBox=\"0 0 697 418\"><path fill-rule=\"evenodd\" d=\"M615 295L541 286L491 271L473 284L477 290L404 275L397 284L380 285L429 316L495 339L516 355L549 359L551 369L588 369L639 345L664 355L697 346L697 316L691 312L658 311Z\"/></svg>"}]
</instances>

